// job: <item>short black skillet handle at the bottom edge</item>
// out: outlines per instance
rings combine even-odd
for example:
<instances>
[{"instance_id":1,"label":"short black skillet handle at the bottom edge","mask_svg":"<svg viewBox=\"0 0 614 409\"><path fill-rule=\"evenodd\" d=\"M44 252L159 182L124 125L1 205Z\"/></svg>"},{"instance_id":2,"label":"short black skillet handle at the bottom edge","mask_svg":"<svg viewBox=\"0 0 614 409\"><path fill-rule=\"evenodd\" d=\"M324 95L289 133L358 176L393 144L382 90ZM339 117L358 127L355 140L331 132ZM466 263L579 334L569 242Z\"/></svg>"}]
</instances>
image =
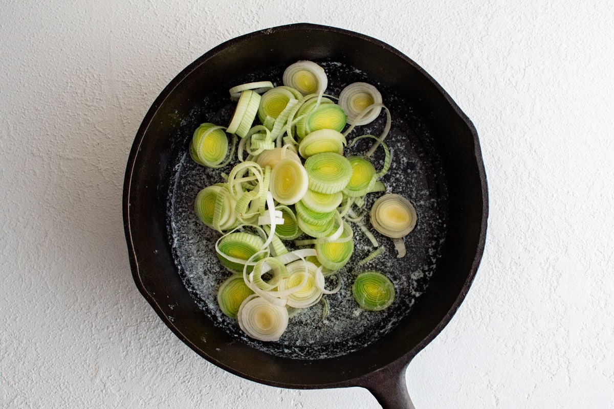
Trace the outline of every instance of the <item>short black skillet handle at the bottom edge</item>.
<instances>
[{"instance_id":1,"label":"short black skillet handle at the bottom edge","mask_svg":"<svg viewBox=\"0 0 614 409\"><path fill-rule=\"evenodd\" d=\"M416 409L405 386L406 367L386 367L370 373L360 386L367 388L383 409Z\"/></svg>"}]
</instances>

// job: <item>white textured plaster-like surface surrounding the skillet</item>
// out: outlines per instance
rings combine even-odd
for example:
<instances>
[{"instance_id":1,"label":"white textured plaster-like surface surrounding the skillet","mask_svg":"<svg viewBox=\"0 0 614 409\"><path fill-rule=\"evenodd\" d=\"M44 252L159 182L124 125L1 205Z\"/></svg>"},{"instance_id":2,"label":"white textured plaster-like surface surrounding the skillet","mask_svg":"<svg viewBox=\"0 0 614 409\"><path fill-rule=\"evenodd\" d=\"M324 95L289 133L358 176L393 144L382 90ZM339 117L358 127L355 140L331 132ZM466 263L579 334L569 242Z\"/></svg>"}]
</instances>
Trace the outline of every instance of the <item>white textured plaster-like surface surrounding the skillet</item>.
<instances>
[{"instance_id":1,"label":"white textured plaster-like surface surrounding the skillet","mask_svg":"<svg viewBox=\"0 0 614 409\"><path fill-rule=\"evenodd\" d=\"M486 251L407 370L416 407L614 407L613 2L2 3L0 407L378 407L209 364L128 265L123 174L150 104L215 45L298 21L398 48L480 134Z\"/></svg>"}]
</instances>

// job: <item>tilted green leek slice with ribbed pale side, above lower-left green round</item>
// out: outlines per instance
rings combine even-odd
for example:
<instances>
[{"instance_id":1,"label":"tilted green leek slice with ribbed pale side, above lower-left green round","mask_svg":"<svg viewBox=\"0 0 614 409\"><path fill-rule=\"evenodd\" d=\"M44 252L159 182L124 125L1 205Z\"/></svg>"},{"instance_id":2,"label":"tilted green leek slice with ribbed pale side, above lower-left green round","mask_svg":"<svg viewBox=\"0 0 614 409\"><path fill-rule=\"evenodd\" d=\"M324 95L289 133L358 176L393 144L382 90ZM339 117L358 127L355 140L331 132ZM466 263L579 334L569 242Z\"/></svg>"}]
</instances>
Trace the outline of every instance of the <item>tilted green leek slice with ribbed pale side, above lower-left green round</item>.
<instances>
[{"instance_id":1,"label":"tilted green leek slice with ribbed pale side, above lower-left green round","mask_svg":"<svg viewBox=\"0 0 614 409\"><path fill-rule=\"evenodd\" d=\"M251 271L254 266L249 266L246 262L258 253L264 244L265 241L261 237L246 232L223 235L216 243L217 258L224 267L233 272L243 272L244 266Z\"/></svg>"}]
</instances>

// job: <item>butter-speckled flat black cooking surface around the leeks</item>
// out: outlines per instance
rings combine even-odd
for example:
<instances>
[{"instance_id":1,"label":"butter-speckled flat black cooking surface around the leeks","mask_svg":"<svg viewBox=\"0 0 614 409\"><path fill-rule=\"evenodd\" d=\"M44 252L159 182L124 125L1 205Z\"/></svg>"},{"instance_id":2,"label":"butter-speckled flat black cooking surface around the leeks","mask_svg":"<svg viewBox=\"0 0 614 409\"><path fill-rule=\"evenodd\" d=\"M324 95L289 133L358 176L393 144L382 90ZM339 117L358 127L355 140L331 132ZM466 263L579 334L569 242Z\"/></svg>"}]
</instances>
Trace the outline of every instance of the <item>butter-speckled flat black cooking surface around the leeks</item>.
<instances>
[{"instance_id":1,"label":"butter-speckled flat black cooking surface around the leeks","mask_svg":"<svg viewBox=\"0 0 614 409\"><path fill-rule=\"evenodd\" d=\"M327 59L316 62L327 72L328 94L337 96L344 86L357 81L372 83L383 94L384 104L392 117L392 128L386 138L392 151L392 164L381 180L387 192L402 194L414 204L418 224L405 237L408 250L405 258L397 258L391 240L373 230L386 251L368 264L359 266L357 261L365 258L374 248L359 227L351 223L356 248L348 266L338 275L342 281L341 290L325 296L328 315L323 318L322 303L301 310L290 318L289 327L278 342L252 340L243 334L235 319L223 315L217 306L217 287L230 276L230 272L221 266L216 257L214 244L220 234L198 220L193 211L193 202L200 189L223 182L220 172L228 174L236 160L225 169L208 169L190 158L187 147L193 130L200 123L227 124L230 121L236 103L230 101L228 88L260 80L271 80L274 85L282 85L281 74L286 64L267 67L220 84L219 90L203 95L201 101L194 101L195 108L182 121L179 129L169 136L174 139L173 146L177 153L174 155L173 172L169 176L173 183L169 185L168 192L168 234L185 286L206 315L233 337L276 356L300 359L335 357L359 350L390 332L401 319L411 314L416 299L426 291L429 278L437 267L445 243L448 219L448 196L441 158L434 147L429 127L421 118L419 107L414 107L416 102L349 64ZM363 134L379 135L385 122L383 111L375 122L357 127L349 135L348 142ZM346 149L345 154L360 155L371 143L372 140L359 142ZM381 149L375 155L378 169L383 166L383 156ZM382 194L368 194L365 204L367 212ZM365 221L370 226L368 216ZM383 272L395 285L397 296L394 304L384 311L360 310L352 298L354 278L368 269Z\"/></svg>"}]
</instances>

